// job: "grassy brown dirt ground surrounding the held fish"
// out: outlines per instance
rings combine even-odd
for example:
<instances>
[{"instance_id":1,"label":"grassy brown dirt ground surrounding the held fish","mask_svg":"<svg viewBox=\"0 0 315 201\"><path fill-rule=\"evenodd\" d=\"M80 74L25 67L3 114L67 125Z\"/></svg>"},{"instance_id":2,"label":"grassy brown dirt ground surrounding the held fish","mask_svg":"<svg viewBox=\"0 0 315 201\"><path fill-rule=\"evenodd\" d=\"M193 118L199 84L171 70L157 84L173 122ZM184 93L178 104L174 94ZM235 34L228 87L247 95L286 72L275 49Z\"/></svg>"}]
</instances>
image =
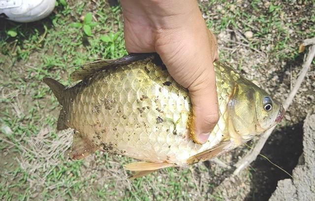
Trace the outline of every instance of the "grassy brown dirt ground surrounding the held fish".
<instances>
[{"instance_id":1,"label":"grassy brown dirt ground surrounding the held fish","mask_svg":"<svg viewBox=\"0 0 315 201\"><path fill-rule=\"evenodd\" d=\"M131 160L125 157L103 152L83 161L64 157L71 131L56 132L60 107L41 79L51 76L69 84L73 65L118 58L126 51L119 6L110 8L107 1L69 0L64 6L58 2L51 18L28 25L38 29L29 38L16 38L16 43L6 37L6 30L23 28L24 33L26 25L0 21L0 199L265 201L278 180L289 178L258 157L233 184L218 189L233 172L233 164L249 151L246 146L220 157L230 169L207 161L190 168L167 168L135 181L126 179L128 172L122 166ZM314 1L201 0L199 4L217 35L220 60L284 101L308 51L298 53L299 45L315 36ZM107 26L96 26L93 37L68 27L87 12ZM110 31L120 33L118 39L101 43L98 36ZM114 53L107 49L111 44ZM302 153L304 118L315 110L314 66L313 62L284 120L261 152L290 174Z\"/></svg>"}]
</instances>

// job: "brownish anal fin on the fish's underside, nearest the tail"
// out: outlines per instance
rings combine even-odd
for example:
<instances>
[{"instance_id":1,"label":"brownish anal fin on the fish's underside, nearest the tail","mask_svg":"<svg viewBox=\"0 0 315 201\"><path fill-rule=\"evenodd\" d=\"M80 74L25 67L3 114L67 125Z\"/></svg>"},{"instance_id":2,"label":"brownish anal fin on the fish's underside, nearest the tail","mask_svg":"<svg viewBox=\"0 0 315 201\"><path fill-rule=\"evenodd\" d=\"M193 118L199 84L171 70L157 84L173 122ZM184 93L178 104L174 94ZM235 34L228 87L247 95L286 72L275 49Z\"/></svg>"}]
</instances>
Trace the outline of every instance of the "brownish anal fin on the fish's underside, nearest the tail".
<instances>
[{"instance_id":1,"label":"brownish anal fin on the fish's underside, nearest the tail","mask_svg":"<svg viewBox=\"0 0 315 201\"><path fill-rule=\"evenodd\" d=\"M87 143L82 135L76 131L73 134L73 143L69 155L72 159L83 159L91 153L94 153L97 149L98 148Z\"/></svg>"}]
</instances>

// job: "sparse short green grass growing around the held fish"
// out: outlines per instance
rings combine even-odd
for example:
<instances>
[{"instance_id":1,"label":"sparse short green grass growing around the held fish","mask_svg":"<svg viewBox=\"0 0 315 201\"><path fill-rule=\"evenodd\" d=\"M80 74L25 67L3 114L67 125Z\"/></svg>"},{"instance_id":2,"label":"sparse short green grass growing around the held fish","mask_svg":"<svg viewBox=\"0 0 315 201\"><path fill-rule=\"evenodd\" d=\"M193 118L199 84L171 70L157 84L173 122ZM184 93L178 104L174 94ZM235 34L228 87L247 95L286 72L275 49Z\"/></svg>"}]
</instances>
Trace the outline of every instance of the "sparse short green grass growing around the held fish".
<instances>
[{"instance_id":1,"label":"sparse short green grass growing around the held fish","mask_svg":"<svg viewBox=\"0 0 315 201\"><path fill-rule=\"evenodd\" d=\"M30 139L36 139L43 129L49 131L45 135L47 147L63 136L56 132L59 104L41 82L42 78L53 77L69 85L69 74L76 65L127 54L119 6L109 7L104 0L97 1L97 4L93 1L58 2L56 12L44 20L29 24L1 22L0 156L5 160L0 165L0 199L222 200L221 195L207 193L214 187L210 180L203 181L202 195L192 195L198 192L199 187L187 168L167 168L129 182L125 179L122 165L131 160L106 153L95 154L95 161L98 161L95 166L87 165L84 160L65 160L63 154L52 157L55 164L38 167L35 172L30 171L32 167L21 166L21 158L29 164L34 161L45 164L48 160L34 154L32 150L21 148L30 147ZM218 10L219 4L221 9ZM276 1L264 7L254 0L244 8L236 3L209 0L200 3L200 7L204 15L208 16L207 25L214 33L219 34L227 28L238 29L243 33L250 30L253 38L242 42L249 44L250 48L266 52L271 59L294 60L298 56L297 42L315 35L314 10L310 11L310 18L302 16L289 22L282 20L282 16L284 19L287 17L284 7L288 5ZM247 10L251 9L255 15L248 14ZM88 23L91 32L84 30L84 22L80 21L82 16L86 17L90 12L94 16ZM81 23L82 27L73 23ZM302 30L305 23L310 24L308 32ZM289 29L294 30L298 39L290 35ZM266 49L268 45L270 49ZM229 56L227 51L221 51L222 60L228 61ZM241 62L238 68L242 68ZM89 169L84 170L85 166ZM94 172L92 167L96 168ZM209 171L202 164L193 168L203 174ZM114 174L111 169L121 173ZM102 174L108 178L100 183ZM117 178L119 176L121 178ZM248 177L250 179L251 175ZM32 181L43 183L38 185Z\"/></svg>"}]
</instances>

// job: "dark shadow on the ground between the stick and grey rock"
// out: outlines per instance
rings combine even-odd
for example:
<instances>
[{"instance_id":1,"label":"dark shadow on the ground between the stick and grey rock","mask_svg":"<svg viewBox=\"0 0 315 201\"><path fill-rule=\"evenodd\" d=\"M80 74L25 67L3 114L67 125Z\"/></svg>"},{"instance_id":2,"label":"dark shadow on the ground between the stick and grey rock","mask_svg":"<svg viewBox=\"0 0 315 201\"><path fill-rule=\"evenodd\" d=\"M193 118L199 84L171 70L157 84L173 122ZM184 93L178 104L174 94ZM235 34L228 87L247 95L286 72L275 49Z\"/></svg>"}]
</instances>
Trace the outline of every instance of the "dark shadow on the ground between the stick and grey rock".
<instances>
[{"instance_id":1,"label":"dark shadow on the ground between the stick and grey rock","mask_svg":"<svg viewBox=\"0 0 315 201\"><path fill-rule=\"evenodd\" d=\"M292 174L302 154L303 122L275 131L267 140L261 154ZM276 190L279 180L290 178L283 170L262 157L252 164L251 192L246 201L266 201Z\"/></svg>"}]
</instances>

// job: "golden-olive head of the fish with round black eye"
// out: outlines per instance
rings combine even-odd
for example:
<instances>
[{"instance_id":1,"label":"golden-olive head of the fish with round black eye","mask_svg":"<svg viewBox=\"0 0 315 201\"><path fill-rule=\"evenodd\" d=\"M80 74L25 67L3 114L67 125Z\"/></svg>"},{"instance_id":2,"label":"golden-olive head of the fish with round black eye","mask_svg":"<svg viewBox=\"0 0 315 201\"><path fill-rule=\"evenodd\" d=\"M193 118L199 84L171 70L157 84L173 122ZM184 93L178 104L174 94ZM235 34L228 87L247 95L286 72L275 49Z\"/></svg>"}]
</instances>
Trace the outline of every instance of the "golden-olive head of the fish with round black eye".
<instances>
[{"instance_id":1,"label":"golden-olive head of the fish with round black eye","mask_svg":"<svg viewBox=\"0 0 315 201\"><path fill-rule=\"evenodd\" d=\"M243 80L235 86L228 112L233 130L248 140L279 123L285 110L263 89Z\"/></svg>"}]
</instances>

